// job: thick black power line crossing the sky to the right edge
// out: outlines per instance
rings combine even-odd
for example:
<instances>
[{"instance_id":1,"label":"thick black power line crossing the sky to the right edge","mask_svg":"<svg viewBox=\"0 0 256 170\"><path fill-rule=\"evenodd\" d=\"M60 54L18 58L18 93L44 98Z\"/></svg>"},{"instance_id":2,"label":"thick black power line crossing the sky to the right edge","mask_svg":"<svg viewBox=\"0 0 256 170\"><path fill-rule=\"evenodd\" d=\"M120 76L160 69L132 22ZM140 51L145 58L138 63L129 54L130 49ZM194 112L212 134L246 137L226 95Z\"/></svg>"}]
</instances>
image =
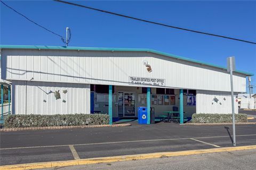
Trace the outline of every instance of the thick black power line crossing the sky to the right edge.
<instances>
[{"instance_id":1,"label":"thick black power line crossing the sky to the right edge","mask_svg":"<svg viewBox=\"0 0 256 170\"><path fill-rule=\"evenodd\" d=\"M60 2L60 3L65 3L65 4L69 4L69 5L74 5L74 6L79 6L79 7L84 7L84 8L88 8L90 10L95 10L95 11L108 13L108 14L112 14L112 15L117 15L117 16L121 16L121 17L124 17L124 18L129 18L129 19L133 19L133 20L148 22L148 23L152 23L152 24L156 24L156 25L162 25L164 27L175 28L175 29L180 29L180 30L190 31L190 32L195 32L195 33L201 33L201 34L208 35L208 36L215 36L215 37L221 37L221 38L226 38L226 39L231 39L231 40L236 40L236 41L242 41L244 43L256 44L252 41L247 41L247 40L237 39L237 38L231 38L231 37L226 37L226 36L221 36L221 35L215 35L213 33L190 30L190 29L181 28L181 27L175 27L175 26L172 26L172 25L164 24L164 23L159 23L159 22L154 22L154 21L149 21L149 20L143 20L143 19L135 18L133 16L128 16L128 15L118 14L118 13L114 13L114 12L110 12L110 11L100 10L98 8L93 8L93 7L90 7L90 6L85 6L85 5L75 4L75 3L71 3L71 2L60 1L60 0L53 0L53 1Z\"/></svg>"}]
</instances>

